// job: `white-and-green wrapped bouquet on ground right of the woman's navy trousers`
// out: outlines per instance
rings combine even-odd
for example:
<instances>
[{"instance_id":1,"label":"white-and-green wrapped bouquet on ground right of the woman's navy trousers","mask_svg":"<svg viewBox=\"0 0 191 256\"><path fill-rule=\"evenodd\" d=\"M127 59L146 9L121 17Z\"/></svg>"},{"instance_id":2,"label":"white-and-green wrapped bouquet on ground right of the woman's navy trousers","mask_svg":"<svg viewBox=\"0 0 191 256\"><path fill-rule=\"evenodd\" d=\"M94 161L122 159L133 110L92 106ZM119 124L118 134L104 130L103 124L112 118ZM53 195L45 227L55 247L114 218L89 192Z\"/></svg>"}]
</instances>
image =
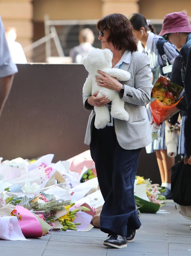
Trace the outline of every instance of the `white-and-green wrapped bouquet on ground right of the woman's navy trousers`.
<instances>
[{"instance_id":1,"label":"white-and-green wrapped bouquet on ground right of the woman's navy trousers","mask_svg":"<svg viewBox=\"0 0 191 256\"><path fill-rule=\"evenodd\" d=\"M135 200L138 199L140 212L155 213L164 206L166 197L162 193L165 189L144 177L136 176L135 181Z\"/></svg>"}]
</instances>

